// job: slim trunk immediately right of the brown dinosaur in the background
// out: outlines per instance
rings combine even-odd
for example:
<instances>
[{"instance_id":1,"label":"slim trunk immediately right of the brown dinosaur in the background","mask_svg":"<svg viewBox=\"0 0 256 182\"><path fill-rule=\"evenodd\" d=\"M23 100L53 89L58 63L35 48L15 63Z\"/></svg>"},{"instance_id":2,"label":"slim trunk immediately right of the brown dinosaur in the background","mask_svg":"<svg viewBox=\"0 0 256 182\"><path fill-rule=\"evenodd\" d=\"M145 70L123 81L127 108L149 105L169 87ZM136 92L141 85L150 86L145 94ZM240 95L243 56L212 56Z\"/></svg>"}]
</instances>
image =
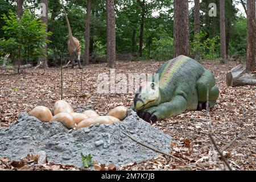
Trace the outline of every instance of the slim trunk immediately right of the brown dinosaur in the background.
<instances>
[{"instance_id":1,"label":"slim trunk immediately right of the brown dinosaur in the background","mask_svg":"<svg viewBox=\"0 0 256 182\"><path fill-rule=\"evenodd\" d=\"M90 53L90 2L87 0L86 5L86 29L85 29L85 51L84 51L84 64L89 64L89 53Z\"/></svg>"}]
</instances>

